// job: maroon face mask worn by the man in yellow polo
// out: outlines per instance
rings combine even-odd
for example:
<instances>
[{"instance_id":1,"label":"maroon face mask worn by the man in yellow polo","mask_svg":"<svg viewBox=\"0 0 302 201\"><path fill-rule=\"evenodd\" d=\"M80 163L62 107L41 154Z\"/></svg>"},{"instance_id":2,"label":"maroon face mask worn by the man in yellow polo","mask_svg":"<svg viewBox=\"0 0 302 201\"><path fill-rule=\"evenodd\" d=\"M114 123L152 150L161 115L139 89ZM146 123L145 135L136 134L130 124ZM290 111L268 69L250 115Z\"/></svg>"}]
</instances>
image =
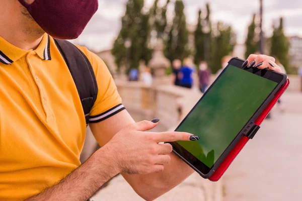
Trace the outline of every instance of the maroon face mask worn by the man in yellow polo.
<instances>
[{"instance_id":1,"label":"maroon face mask worn by the man in yellow polo","mask_svg":"<svg viewBox=\"0 0 302 201\"><path fill-rule=\"evenodd\" d=\"M98 10L98 0L35 0L19 2L50 36L58 39L78 38Z\"/></svg>"}]
</instances>

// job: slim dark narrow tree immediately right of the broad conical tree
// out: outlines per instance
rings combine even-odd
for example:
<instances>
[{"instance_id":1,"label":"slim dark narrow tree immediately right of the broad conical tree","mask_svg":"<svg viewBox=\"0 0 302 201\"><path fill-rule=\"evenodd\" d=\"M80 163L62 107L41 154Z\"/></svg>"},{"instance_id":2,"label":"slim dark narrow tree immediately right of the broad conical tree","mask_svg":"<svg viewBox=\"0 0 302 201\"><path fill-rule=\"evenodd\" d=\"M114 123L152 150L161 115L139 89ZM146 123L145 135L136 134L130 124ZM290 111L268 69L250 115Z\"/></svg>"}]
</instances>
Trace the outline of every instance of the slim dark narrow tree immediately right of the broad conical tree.
<instances>
[{"instance_id":1,"label":"slim dark narrow tree immediately right of the broad conical tree","mask_svg":"<svg viewBox=\"0 0 302 201\"><path fill-rule=\"evenodd\" d=\"M194 62L196 65L198 65L200 61L204 61L204 34L202 31L202 23L203 21L201 19L201 10L199 10L197 26L194 33L194 38L195 38Z\"/></svg>"}]
</instances>

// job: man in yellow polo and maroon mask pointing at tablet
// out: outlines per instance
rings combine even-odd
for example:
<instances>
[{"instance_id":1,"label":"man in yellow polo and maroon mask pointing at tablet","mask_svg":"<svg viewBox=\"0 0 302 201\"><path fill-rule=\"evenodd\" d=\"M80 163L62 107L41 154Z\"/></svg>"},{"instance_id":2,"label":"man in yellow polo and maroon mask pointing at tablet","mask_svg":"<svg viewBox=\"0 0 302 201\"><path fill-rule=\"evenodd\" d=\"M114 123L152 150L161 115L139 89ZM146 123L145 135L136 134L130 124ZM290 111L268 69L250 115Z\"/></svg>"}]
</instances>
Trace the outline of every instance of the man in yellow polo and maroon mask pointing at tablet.
<instances>
[{"instance_id":1,"label":"man in yellow polo and maroon mask pointing at tablet","mask_svg":"<svg viewBox=\"0 0 302 201\"><path fill-rule=\"evenodd\" d=\"M135 123L104 62L84 47L99 87L90 127L102 148L80 165L85 117L51 36L78 37L97 0L0 3L0 200L87 200L118 173L153 200L193 173L171 145L158 144L191 134L144 132L159 119ZM260 68L274 64L264 55L251 55L246 64L253 60L263 62Z\"/></svg>"}]
</instances>

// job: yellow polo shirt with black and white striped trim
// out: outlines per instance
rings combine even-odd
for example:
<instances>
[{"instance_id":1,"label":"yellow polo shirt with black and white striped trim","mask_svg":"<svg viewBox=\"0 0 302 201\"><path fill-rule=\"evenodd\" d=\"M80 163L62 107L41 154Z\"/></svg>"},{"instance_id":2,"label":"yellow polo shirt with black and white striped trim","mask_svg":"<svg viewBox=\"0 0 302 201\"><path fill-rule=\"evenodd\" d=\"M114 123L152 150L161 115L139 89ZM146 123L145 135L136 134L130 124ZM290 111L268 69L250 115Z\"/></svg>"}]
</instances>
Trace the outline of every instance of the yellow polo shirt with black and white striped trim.
<instances>
[{"instance_id":1,"label":"yellow polo shirt with black and white striped trim","mask_svg":"<svg viewBox=\"0 0 302 201\"><path fill-rule=\"evenodd\" d=\"M95 123L124 107L104 62L79 48L98 83ZM80 165L85 116L53 38L44 34L36 50L22 50L0 37L0 100L0 200L24 200Z\"/></svg>"}]
</instances>

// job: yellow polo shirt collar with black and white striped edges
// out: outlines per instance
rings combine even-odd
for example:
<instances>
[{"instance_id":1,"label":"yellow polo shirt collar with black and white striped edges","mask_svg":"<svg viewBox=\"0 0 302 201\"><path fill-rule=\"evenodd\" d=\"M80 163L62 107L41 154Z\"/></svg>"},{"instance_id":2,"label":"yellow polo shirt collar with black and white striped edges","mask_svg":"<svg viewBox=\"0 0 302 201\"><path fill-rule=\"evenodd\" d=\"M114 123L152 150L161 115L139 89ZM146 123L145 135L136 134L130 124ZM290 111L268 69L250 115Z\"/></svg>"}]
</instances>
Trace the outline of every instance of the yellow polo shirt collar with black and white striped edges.
<instances>
[{"instance_id":1,"label":"yellow polo shirt collar with black and white striped edges","mask_svg":"<svg viewBox=\"0 0 302 201\"><path fill-rule=\"evenodd\" d=\"M37 55L43 60L51 60L50 55L50 37L48 34L44 34L40 44L38 45L37 49L34 51ZM20 49L8 41L0 37L0 62L4 64L12 64L14 61L17 61L26 53L31 50L23 50Z\"/></svg>"}]
</instances>

